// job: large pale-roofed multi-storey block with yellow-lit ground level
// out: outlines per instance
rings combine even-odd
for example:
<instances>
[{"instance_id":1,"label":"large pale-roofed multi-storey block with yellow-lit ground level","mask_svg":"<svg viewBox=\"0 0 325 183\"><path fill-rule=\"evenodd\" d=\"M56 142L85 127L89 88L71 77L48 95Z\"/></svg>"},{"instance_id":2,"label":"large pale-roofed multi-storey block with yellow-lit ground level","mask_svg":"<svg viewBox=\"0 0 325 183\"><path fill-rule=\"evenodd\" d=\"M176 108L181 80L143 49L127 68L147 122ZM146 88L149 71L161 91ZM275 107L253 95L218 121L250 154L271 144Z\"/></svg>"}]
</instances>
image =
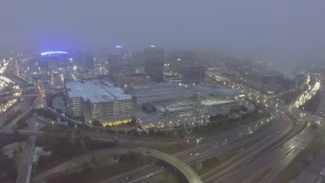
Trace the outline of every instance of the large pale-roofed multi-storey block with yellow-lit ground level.
<instances>
[{"instance_id":1,"label":"large pale-roofed multi-storey block with yellow-lit ground level","mask_svg":"<svg viewBox=\"0 0 325 183\"><path fill-rule=\"evenodd\" d=\"M66 82L68 115L103 125L128 123L133 117L133 98L110 82L90 80Z\"/></svg>"}]
</instances>

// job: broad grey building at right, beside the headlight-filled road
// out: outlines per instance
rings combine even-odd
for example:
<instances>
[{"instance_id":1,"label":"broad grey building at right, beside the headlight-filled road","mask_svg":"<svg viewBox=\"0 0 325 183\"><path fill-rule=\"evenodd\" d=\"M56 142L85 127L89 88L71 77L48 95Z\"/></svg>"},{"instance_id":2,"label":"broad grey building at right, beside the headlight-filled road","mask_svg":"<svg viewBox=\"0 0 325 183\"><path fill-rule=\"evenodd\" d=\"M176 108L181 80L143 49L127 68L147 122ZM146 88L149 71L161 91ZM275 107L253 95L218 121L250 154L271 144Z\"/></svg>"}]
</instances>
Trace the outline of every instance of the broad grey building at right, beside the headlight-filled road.
<instances>
[{"instance_id":1,"label":"broad grey building at right, beside the headlight-filled road","mask_svg":"<svg viewBox=\"0 0 325 183\"><path fill-rule=\"evenodd\" d=\"M283 74L277 71L254 69L249 73L247 85L262 94L274 94L282 89Z\"/></svg>"}]
</instances>

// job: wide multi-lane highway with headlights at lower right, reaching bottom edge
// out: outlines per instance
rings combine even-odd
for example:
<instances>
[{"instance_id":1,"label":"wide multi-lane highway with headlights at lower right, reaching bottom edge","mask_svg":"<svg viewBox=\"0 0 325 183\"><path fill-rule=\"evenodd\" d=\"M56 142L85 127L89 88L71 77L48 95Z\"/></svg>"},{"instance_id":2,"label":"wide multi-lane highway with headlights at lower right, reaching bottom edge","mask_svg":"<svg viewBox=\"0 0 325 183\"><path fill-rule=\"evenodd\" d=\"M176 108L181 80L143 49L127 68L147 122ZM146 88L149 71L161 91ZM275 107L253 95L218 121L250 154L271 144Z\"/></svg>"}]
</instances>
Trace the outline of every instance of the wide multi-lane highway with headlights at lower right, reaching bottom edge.
<instances>
[{"instance_id":1,"label":"wide multi-lane highway with headlights at lower right, reaching bottom edge","mask_svg":"<svg viewBox=\"0 0 325 183\"><path fill-rule=\"evenodd\" d=\"M300 150L306 148L314 134L313 128L305 128L269 153L260 155L253 161L247 161L240 168L210 182L254 182L256 178L258 182L272 182L276 175L299 154Z\"/></svg>"}]
</instances>

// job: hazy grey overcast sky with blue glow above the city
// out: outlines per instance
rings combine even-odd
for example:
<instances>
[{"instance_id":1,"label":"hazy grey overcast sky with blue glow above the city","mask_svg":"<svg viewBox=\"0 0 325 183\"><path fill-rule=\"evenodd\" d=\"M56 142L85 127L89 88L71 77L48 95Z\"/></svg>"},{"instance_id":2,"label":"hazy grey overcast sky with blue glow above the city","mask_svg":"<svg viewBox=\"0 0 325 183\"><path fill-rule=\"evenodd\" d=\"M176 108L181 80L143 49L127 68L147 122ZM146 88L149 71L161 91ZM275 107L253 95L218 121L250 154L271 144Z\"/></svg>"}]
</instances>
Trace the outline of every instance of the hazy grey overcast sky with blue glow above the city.
<instances>
[{"instance_id":1,"label":"hazy grey overcast sky with blue glow above the city","mask_svg":"<svg viewBox=\"0 0 325 183\"><path fill-rule=\"evenodd\" d=\"M325 58L324 8L324 0L0 0L0 52L156 44Z\"/></svg>"}]
</instances>

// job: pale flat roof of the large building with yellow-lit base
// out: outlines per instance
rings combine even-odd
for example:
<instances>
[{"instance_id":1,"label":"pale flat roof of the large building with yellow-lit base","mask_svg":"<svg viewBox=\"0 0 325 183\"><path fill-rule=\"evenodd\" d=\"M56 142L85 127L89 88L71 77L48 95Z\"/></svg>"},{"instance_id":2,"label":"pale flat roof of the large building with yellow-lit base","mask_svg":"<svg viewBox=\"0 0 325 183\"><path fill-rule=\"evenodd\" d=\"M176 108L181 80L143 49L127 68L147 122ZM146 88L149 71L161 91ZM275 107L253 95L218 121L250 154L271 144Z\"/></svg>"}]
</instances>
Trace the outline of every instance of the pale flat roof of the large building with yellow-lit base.
<instances>
[{"instance_id":1,"label":"pale flat roof of the large building with yellow-lit base","mask_svg":"<svg viewBox=\"0 0 325 183\"><path fill-rule=\"evenodd\" d=\"M114 87L110 82L102 80L90 80L85 82L66 82L65 87L69 98L82 97L84 101L91 103L120 101L131 99L132 96L125 94L123 89Z\"/></svg>"}]
</instances>

